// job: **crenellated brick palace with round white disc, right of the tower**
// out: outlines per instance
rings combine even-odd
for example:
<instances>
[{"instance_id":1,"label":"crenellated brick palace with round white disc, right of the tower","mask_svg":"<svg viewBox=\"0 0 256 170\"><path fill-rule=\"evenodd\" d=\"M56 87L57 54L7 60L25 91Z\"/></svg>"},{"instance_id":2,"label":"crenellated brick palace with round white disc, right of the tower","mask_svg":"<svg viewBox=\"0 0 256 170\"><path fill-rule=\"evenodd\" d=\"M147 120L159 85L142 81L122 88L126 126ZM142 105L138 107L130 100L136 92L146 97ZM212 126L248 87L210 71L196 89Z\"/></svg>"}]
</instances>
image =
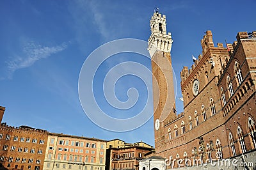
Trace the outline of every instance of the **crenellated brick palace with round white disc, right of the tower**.
<instances>
[{"instance_id":1,"label":"crenellated brick palace with round white disc, right of the tower","mask_svg":"<svg viewBox=\"0 0 256 170\"><path fill-rule=\"evenodd\" d=\"M207 31L201 45L202 54L192 67L180 72L184 112L155 130L156 155L168 160L205 163L244 155L256 147L256 32L238 33L237 41L225 48L222 43L214 47ZM160 49L154 58L161 57ZM152 64L153 77L155 67ZM159 90L168 93L161 83ZM154 100L164 98L154 95ZM159 113L154 112L157 118ZM177 162L167 168L175 167Z\"/></svg>"}]
</instances>

